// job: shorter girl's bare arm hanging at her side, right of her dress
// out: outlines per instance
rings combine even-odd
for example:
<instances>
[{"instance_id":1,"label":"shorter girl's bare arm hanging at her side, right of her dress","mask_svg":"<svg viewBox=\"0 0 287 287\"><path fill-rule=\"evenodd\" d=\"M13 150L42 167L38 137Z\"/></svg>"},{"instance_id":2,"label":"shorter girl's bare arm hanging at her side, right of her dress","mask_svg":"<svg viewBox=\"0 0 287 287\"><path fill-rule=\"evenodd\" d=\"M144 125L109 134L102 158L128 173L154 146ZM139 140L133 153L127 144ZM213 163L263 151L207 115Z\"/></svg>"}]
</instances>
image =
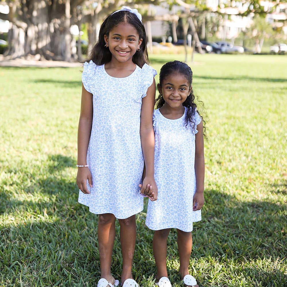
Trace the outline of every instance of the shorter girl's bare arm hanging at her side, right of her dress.
<instances>
[{"instance_id":1,"label":"shorter girl's bare arm hanging at her side, right of her dress","mask_svg":"<svg viewBox=\"0 0 287 287\"><path fill-rule=\"evenodd\" d=\"M204 203L204 141L203 141L203 123L197 125L197 133L195 134L195 177L196 192L193 196L193 211L200 210ZM195 203L197 205L195 206Z\"/></svg>"}]
</instances>

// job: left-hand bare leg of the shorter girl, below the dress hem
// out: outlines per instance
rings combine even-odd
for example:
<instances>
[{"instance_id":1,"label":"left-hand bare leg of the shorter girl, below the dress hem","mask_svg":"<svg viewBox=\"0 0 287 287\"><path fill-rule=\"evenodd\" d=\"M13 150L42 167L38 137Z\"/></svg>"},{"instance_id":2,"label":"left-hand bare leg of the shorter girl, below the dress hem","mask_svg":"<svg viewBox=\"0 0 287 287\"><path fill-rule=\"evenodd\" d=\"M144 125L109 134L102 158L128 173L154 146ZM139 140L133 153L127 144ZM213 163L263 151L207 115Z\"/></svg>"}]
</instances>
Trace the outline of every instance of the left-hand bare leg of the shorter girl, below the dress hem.
<instances>
[{"instance_id":1,"label":"left-hand bare leg of the shorter girl, below the dress hem","mask_svg":"<svg viewBox=\"0 0 287 287\"><path fill-rule=\"evenodd\" d=\"M154 259L156 261L156 282L162 277L167 277L166 270L166 253L167 253L167 237L170 228L156 230L154 232L154 239L152 241L152 247L154 250Z\"/></svg>"}]
</instances>

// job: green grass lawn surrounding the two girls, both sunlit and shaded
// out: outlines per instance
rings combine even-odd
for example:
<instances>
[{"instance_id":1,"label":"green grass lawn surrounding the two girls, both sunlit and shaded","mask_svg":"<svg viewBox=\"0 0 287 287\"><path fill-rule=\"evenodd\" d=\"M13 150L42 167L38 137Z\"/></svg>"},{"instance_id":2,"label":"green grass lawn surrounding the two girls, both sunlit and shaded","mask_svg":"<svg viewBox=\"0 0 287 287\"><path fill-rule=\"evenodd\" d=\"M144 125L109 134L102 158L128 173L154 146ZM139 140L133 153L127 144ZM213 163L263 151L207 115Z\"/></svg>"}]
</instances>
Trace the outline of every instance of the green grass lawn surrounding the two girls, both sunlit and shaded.
<instances>
[{"instance_id":1,"label":"green grass lawn surrounding the two girls, both sunlit and shaded","mask_svg":"<svg viewBox=\"0 0 287 287\"><path fill-rule=\"evenodd\" d=\"M159 72L183 57L150 59ZM287 286L287 57L194 60L193 88L205 103L209 140L190 272L199 286ZM95 286L99 279L97 217L77 203L75 184L80 70L0 68L1 287ZM141 286L153 286L145 215L146 204L137 215L133 274ZM174 231L168 245L169 277L181 287ZM120 278L119 236L112 271Z\"/></svg>"}]
</instances>

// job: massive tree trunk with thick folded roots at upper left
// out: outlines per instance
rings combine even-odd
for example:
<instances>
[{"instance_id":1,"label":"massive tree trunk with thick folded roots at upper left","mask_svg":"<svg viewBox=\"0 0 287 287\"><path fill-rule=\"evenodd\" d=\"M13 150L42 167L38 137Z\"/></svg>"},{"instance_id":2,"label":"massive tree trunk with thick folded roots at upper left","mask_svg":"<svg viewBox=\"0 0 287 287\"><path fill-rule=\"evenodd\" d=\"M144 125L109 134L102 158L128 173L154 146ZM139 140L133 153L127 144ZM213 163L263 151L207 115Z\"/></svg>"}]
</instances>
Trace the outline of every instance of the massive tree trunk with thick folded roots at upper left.
<instances>
[{"instance_id":1,"label":"massive tree trunk with thick folded roots at upper left","mask_svg":"<svg viewBox=\"0 0 287 287\"><path fill-rule=\"evenodd\" d=\"M39 54L45 59L71 60L71 15L84 0L6 0L9 46L5 56Z\"/></svg>"}]
</instances>

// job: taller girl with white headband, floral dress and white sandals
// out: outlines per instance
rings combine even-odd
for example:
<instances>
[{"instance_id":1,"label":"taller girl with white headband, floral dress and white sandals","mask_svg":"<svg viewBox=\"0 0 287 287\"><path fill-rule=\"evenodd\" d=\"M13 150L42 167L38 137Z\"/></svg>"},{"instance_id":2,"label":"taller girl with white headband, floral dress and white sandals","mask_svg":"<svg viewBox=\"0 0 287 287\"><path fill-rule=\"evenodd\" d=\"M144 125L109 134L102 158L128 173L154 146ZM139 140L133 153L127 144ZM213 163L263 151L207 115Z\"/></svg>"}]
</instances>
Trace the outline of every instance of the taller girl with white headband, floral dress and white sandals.
<instances>
[{"instance_id":1,"label":"taller girl with white headband, floral dress and white sandals","mask_svg":"<svg viewBox=\"0 0 287 287\"><path fill-rule=\"evenodd\" d=\"M84 63L78 128L79 203L99 214L98 287L117 286L111 274L115 220L119 219L123 286L138 286L131 268L135 249L135 214L143 210L138 192L154 180L152 114L156 71L147 65L147 40L141 15L123 7L104 20L99 40Z\"/></svg>"}]
</instances>

